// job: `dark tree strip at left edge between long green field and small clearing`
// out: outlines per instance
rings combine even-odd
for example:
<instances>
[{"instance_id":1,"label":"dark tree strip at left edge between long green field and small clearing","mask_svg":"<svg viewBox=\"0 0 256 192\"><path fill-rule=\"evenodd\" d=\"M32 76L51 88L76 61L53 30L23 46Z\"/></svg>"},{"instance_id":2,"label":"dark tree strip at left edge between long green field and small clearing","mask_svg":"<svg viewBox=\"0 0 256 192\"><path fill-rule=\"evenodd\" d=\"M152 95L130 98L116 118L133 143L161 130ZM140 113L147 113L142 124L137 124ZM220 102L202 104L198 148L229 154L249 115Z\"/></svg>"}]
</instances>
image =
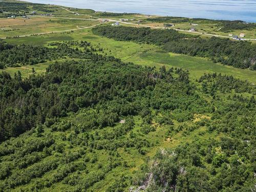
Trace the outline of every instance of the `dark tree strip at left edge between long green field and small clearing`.
<instances>
[{"instance_id":1,"label":"dark tree strip at left edge between long green field and small clearing","mask_svg":"<svg viewBox=\"0 0 256 192\"><path fill-rule=\"evenodd\" d=\"M50 44L51 48L31 45L10 45L0 41L0 69L23 65L35 65L37 63L51 61L59 58L88 58L90 43L81 41L74 46L74 42L62 44ZM78 48L86 49L81 51Z\"/></svg>"}]
</instances>

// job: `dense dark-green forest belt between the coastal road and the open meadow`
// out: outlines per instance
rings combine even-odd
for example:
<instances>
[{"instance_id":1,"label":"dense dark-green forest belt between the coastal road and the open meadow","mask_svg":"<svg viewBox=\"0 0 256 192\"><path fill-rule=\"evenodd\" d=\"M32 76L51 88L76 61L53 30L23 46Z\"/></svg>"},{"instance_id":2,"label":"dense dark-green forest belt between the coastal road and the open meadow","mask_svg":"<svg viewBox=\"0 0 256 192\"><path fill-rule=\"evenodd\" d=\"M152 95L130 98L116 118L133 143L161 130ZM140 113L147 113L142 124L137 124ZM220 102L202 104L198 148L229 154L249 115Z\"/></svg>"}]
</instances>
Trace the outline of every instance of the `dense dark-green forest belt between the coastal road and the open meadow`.
<instances>
[{"instance_id":1,"label":"dense dark-green forest belt between the coastal road and the open meadow","mask_svg":"<svg viewBox=\"0 0 256 192\"><path fill-rule=\"evenodd\" d=\"M115 40L161 45L165 51L208 57L214 62L242 69L256 69L256 44L248 41L187 35L175 30L101 26L93 29L97 35Z\"/></svg>"}]
</instances>

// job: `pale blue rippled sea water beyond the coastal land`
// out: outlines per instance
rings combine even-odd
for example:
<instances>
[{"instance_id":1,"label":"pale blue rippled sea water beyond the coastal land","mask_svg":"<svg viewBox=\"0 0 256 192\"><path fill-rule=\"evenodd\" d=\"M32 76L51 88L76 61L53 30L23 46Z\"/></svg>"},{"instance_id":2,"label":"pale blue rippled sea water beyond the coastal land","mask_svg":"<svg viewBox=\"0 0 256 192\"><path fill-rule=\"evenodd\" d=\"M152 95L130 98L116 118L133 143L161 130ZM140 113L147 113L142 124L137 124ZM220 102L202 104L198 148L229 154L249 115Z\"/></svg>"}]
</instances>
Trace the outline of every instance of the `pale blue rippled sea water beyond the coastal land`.
<instances>
[{"instance_id":1,"label":"pale blue rippled sea water beyond the coastal land","mask_svg":"<svg viewBox=\"0 0 256 192\"><path fill-rule=\"evenodd\" d=\"M244 20L256 23L256 0L26 0L96 11Z\"/></svg>"}]
</instances>

